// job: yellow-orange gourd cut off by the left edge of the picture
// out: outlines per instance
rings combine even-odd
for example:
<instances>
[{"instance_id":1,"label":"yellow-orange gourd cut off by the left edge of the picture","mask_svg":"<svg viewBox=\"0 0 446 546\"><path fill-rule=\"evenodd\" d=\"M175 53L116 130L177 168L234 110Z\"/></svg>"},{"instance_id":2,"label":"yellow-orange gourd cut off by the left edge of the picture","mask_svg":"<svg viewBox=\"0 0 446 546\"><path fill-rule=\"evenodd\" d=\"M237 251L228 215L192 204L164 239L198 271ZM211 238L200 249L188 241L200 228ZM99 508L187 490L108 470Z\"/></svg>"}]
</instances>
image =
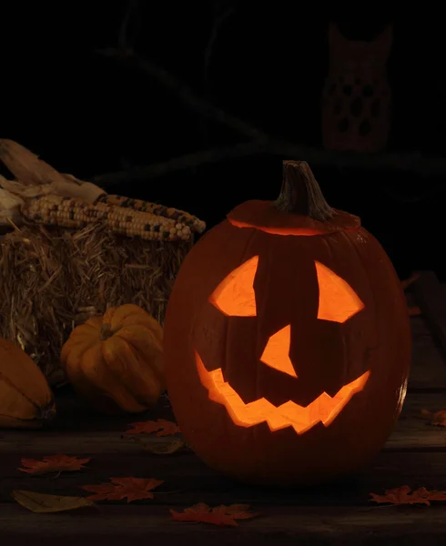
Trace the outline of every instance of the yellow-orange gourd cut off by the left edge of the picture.
<instances>
[{"instance_id":1,"label":"yellow-orange gourd cut off by the left edge of the picture","mask_svg":"<svg viewBox=\"0 0 446 546\"><path fill-rule=\"evenodd\" d=\"M0 427L35 429L55 415L42 371L15 343L0 339Z\"/></svg>"}]
</instances>

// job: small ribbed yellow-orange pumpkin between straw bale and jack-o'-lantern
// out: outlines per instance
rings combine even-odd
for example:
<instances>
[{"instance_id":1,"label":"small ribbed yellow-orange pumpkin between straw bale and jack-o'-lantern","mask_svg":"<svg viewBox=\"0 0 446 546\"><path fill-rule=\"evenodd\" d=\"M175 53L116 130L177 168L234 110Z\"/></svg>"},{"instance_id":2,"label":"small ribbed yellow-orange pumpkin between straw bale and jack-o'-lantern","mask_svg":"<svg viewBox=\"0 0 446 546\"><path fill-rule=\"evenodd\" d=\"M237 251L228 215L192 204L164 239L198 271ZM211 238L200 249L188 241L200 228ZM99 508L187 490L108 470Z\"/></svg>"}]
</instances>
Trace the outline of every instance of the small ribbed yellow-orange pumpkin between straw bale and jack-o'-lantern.
<instances>
[{"instance_id":1,"label":"small ribbed yellow-orange pumpkin between straw bale and jack-o'-lantern","mask_svg":"<svg viewBox=\"0 0 446 546\"><path fill-rule=\"evenodd\" d=\"M104 413L137 413L165 389L163 330L133 304L108 308L71 332L61 363L76 392Z\"/></svg>"}]
</instances>

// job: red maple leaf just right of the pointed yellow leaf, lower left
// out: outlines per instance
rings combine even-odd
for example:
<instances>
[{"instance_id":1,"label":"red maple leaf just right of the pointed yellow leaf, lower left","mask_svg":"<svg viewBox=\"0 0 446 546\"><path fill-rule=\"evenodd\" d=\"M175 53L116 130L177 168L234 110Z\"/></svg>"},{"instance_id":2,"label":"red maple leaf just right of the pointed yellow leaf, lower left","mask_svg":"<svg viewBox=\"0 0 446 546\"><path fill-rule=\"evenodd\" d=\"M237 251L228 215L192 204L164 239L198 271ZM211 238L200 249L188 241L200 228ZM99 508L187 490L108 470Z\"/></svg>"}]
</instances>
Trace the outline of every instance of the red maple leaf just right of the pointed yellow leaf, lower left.
<instances>
[{"instance_id":1,"label":"red maple leaf just right of the pointed yellow leaf, lower left","mask_svg":"<svg viewBox=\"0 0 446 546\"><path fill-rule=\"evenodd\" d=\"M151 490L164 483L164 480L129 477L110 478L110 482L82 485L81 488L96 493L86 497L90 501L121 501L127 497L127 502L132 502L140 499L153 499Z\"/></svg>"}]
</instances>

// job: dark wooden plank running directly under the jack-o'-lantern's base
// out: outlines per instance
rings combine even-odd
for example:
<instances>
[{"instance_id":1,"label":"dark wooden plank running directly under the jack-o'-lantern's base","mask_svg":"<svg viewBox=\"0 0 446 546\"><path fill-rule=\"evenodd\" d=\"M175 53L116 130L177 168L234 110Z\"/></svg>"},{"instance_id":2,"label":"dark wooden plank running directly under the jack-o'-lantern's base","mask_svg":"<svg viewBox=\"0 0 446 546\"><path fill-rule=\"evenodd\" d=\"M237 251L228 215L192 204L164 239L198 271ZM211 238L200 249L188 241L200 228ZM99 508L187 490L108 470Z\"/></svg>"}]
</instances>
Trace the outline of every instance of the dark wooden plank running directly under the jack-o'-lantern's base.
<instances>
[{"instance_id":1,"label":"dark wooden plank running directly under the jack-o'-lantern's base","mask_svg":"<svg viewBox=\"0 0 446 546\"><path fill-rule=\"evenodd\" d=\"M154 491L150 505L188 506L197 502L231 504L242 502L265 505L368 506L370 492L401 485L412 489L446 490L446 453L408 453L382 451L357 476L323 486L279 490L255 487L231 480L209 469L193 453L176 457L152 458L145 453L98 453L86 470L54 475L29 476L19 470L19 460L0 456L2 479L0 503L14 502L12 490L35 490L58 495L86 496L82 485L107 482L112 476L155 478L164 483ZM126 504L127 501L119 501Z\"/></svg>"}]
</instances>

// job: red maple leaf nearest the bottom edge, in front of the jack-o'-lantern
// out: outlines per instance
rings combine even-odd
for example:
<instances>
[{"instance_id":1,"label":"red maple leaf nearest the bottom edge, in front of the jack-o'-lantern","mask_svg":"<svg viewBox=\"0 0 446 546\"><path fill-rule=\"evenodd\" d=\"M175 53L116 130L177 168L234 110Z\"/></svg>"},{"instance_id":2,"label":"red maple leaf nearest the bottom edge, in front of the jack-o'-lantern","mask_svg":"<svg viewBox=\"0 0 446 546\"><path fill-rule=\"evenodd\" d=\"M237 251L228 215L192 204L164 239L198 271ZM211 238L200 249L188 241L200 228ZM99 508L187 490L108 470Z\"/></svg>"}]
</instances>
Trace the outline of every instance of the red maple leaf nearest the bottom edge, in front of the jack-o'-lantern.
<instances>
[{"instance_id":1,"label":"red maple leaf nearest the bottom edge, in front of the jack-o'-lantern","mask_svg":"<svg viewBox=\"0 0 446 546\"><path fill-rule=\"evenodd\" d=\"M221 504L215 508L210 508L208 504L198 502L198 504L194 504L194 506L186 508L182 512L170 510L170 513L173 519L177 521L212 523L214 525L234 527L238 525L237 520L248 520L258 516L257 513L250 512L249 509L248 504L231 504L230 506Z\"/></svg>"}]
</instances>

